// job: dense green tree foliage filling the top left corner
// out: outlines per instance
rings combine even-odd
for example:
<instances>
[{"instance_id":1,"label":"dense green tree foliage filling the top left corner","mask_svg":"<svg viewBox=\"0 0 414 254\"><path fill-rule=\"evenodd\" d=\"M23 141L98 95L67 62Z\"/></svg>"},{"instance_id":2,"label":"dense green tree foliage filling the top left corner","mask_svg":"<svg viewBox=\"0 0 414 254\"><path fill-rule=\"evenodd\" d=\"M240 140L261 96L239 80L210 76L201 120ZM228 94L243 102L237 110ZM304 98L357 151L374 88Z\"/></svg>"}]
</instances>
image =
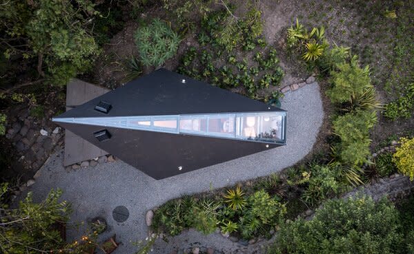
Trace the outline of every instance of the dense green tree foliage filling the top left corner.
<instances>
[{"instance_id":1,"label":"dense green tree foliage filling the top left corner","mask_svg":"<svg viewBox=\"0 0 414 254\"><path fill-rule=\"evenodd\" d=\"M33 59L52 85L86 72L99 53L88 23L98 13L88 0L7 1L0 6L3 54Z\"/></svg>"}]
</instances>

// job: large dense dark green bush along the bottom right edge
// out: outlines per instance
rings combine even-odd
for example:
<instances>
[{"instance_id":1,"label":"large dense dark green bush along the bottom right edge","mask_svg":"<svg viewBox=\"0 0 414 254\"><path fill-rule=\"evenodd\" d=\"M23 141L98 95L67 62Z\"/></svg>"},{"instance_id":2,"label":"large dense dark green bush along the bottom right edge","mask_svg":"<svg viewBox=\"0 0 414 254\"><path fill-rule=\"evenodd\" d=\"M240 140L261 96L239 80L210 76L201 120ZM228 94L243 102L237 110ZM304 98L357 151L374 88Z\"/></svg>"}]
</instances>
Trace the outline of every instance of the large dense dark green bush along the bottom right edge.
<instances>
[{"instance_id":1,"label":"large dense dark green bush along the bottom right edge","mask_svg":"<svg viewBox=\"0 0 414 254\"><path fill-rule=\"evenodd\" d=\"M282 225L268 253L397 253L402 243L398 212L393 204L371 198L329 200L313 220Z\"/></svg>"}]
</instances>

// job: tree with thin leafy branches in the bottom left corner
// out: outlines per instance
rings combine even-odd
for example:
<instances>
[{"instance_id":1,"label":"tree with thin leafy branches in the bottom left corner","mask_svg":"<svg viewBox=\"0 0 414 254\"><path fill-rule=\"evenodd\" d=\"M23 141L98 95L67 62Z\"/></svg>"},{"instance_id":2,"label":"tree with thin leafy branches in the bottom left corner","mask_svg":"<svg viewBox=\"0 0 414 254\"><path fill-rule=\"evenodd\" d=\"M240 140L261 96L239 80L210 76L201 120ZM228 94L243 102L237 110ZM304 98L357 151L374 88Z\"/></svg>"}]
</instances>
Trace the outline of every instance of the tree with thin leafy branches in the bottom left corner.
<instances>
[{"instance_id":1,"label":"tree with thin leafy branches in the bottom left corner","mask_svg":"<svg viewBox=\"0 0 414 254\"><path fill-rule=\"evenodd\" d=\"M47 198L34 203L32 193L19 202L17 209L9 209L5 202L8 184L0 185L0 253L82 253L94 248L96 235L84 235L81 240L66 243L58 224L68 222L70 204L59 202L61 190L51 190Z\"/></svg>"}]
</instances>

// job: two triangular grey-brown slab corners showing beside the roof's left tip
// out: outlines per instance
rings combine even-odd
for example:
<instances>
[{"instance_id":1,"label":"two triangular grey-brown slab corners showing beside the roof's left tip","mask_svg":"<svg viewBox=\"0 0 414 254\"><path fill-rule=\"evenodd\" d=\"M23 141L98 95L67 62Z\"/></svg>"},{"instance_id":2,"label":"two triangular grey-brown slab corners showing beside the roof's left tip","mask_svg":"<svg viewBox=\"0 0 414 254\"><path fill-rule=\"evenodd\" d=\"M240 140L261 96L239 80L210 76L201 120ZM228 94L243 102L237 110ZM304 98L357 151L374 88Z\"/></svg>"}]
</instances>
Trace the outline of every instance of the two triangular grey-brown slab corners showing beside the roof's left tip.
<instances>
[{"instance_id":1,"label":"two triangular grey-brown slab corners showing beside the roof's left tip","mask_svg":"<svg viewBox=\"0 0 414 254\"><path fill-rule=\"evenodd\" d=\"M66 88L66 111L86 103L88 100L92 100L92 98L106 94L109 91L110 89L98 87L97 85L73 78ZM65 156L63 159L63 165L65 167L106 154L108 152L92 145L71 131L65 131Z\"/></svg>"}]
</instances>

